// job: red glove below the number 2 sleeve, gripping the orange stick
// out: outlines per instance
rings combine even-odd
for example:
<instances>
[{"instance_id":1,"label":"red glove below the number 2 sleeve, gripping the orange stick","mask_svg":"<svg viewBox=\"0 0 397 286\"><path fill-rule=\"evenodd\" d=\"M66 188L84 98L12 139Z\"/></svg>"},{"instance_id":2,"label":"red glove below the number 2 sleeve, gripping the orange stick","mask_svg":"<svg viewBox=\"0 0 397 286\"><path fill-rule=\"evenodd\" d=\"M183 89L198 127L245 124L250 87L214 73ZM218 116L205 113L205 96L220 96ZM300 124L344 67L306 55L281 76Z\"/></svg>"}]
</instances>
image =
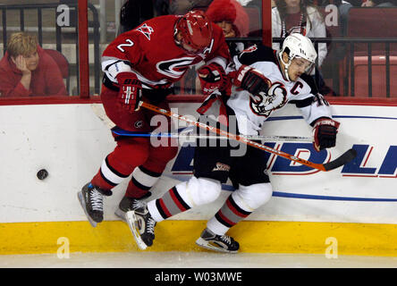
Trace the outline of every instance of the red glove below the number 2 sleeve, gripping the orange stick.
<instances>
[{"instance_id":1,"label":"red glove below the number 2 sleeve, gripping the orange stick","mask_svg":"<svg viewBox=\"0 0 397 286\"><path fill-rule=\"evenodd\" d=\"M139 102L142 98L142 85L137 76L132 72L123 71L117 74L116 79L120 86L119 104L130 113L139 110Z\"/></svg>"}]
</instances>

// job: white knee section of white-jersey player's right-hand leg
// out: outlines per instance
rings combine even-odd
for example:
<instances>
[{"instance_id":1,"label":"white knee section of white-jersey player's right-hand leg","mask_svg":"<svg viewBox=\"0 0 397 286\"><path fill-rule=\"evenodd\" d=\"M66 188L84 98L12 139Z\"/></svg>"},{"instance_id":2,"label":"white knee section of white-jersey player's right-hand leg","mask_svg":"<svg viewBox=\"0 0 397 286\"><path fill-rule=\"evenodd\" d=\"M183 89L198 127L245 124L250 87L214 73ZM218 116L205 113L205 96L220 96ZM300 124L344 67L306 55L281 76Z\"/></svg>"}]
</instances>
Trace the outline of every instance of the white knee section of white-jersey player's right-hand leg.
<instances>
[{"instance_id":1,"label":"white knee section of white-jersey player's right-hand leg","mask_svg":"<svg viewBox=\"0 0 397 286\"><path fill-rule=\"evenodd\" d=\"M232 198L242 209L253 212L259 206L267 203L272 197L273 189L269 182L240 186L232 193Z\"/></svg>"}]
</instances>

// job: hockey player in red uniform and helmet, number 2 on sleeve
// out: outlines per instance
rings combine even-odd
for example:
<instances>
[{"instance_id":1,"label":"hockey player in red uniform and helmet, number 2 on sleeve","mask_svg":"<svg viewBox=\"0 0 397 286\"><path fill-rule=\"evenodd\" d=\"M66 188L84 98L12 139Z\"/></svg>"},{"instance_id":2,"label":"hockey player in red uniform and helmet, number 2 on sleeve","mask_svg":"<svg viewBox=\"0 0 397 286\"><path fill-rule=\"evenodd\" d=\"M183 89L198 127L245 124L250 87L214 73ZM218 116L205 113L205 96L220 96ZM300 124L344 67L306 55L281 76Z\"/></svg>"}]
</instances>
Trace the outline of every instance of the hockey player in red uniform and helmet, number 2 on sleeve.
<instances>
[{"instance_id":1,"label":"hockey player in red uniform and helmet, number 2 on sleeve","mask_svg":"<svg viewBox=\"0 0 397 286\"><path fill-rule=\"evenodd\" d=\"M118 129L136 132L170 130L167 126L150 126L155 115L139 109L145 100L168 108L166 97L173 83L197 63L205 65L199 72L203 88L213 90L224 85L224 69L230 61L223 30L212 25L207 16L191 11L183 16L165 15L143 22L136 29L115 38L102 55L105 72L101 99L107 116ZM160 125L160 124L159 124ZM117 146L106 156L94 178L79 192L81 206L89 222L103 221L103 196L132 173L124 198L116 211L123 217L136 203L147 198L165 165L177 153L177 144L152 147L148 138L120 136L112 133ZM171 139L170 139L171 140Z\"/></svg>"}]
</instances>

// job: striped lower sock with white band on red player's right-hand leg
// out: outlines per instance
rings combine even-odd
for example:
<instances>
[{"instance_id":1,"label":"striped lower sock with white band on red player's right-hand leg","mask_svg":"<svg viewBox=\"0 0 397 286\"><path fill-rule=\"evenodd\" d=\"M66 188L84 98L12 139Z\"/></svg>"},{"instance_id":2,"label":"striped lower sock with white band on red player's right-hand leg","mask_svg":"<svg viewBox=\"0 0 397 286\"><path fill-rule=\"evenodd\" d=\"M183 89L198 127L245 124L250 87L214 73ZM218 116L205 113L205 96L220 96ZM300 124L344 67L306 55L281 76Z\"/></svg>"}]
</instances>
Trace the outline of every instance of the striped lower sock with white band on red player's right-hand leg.
<instances>
[{"instance_id":1,"label":"striped lower sock with white band on red player's right-hand leg","mask_svg":"<svg viewBox=\"0 0 397 286\"><path fill-rule=\"evenodd\" d=\"M125 195L131 198L148 197L149 189L153 187L160 176L161 172L152 172L144 166L136 167L132 172Z\"/></svg>"}]
</instances>

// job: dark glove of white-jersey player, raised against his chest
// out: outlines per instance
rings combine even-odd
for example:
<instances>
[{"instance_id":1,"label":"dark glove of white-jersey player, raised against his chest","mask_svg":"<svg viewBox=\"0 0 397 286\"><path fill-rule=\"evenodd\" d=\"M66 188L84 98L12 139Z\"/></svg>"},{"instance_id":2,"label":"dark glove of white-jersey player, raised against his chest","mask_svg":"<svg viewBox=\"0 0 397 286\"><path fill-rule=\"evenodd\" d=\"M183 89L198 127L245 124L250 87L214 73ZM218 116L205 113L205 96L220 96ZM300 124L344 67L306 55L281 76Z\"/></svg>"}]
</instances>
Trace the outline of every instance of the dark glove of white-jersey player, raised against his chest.
<instances>
[{"instance_id":1,"label":"dark glove of white-jersey player, raised against his chest","mask_svg":"<svg viewBox=\"0 0 397 286\"><path fill-rule=\"evenodd\" d=\"M266 93L272 85L272 82L262 72L246 64L241 65L239 71L236 72L233 83L236 87L245 89L254 96L260 92Z\"/></svg>"}]
</instances>

